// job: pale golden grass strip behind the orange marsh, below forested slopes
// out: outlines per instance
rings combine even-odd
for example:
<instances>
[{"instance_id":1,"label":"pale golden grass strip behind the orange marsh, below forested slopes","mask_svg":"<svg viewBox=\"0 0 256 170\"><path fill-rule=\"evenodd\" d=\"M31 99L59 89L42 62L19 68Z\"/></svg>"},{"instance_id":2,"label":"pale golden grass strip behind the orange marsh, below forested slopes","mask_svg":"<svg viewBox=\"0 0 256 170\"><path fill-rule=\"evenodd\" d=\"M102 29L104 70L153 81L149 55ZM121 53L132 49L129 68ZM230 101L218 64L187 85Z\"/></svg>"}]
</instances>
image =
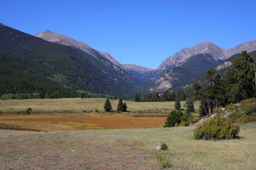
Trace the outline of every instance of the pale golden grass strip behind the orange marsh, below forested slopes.
<instances>
[{"instance_id":1,"label":"pale golden grass strip behind the orange marsh, below forested slopes","mask_svg":"<svg viewBox=\"0 0 256 170\"><path fill-rule=\"evenodd\" d=\"M90 111L97 109L103 112L104 98L66 98L66 99L26 99L26 100L0 100L0 111L26 111L32 108L33 111ZM128 111L161 111L170 112L175 109L175 102L130 102L125 101ZM118 100L111 100L113 110L116 110ZM184 102L181 102L183 108ZM157 110L156 110L157 109ZM195 103L198 110L198 103Z\"/></svg>"}]
</instances>

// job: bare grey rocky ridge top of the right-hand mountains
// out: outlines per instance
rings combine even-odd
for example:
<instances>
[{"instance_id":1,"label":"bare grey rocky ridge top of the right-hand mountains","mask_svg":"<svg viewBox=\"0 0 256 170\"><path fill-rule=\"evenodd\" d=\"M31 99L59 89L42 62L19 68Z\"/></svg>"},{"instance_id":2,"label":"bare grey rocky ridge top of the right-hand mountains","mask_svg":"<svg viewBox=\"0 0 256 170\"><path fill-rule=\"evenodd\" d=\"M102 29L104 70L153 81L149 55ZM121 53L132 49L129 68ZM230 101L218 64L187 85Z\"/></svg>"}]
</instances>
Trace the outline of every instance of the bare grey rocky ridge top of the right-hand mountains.
<instances>
[{"instance_id":1,"label":"bare grey rocky ridge top of the right-hand mountains","mask_svg":"<svg viewBox=\"0 0 256 170\"><path fill-rule=\"evenodd\" d=\"M184 48L181 51L175 53L173 56L168 57L154 71L153 77L162 75L166 70L169 70L172 67L182 65L183 61L196 54L209 54L210 56L212 56L213 59L217 61L227 59L234 54L240 53L243 50L247 50L248 52L255 51L256 40L242 43L230 49L218 47L211 42L202 42L195 45L194 47Z\"/></svg>"}]
</instances>

